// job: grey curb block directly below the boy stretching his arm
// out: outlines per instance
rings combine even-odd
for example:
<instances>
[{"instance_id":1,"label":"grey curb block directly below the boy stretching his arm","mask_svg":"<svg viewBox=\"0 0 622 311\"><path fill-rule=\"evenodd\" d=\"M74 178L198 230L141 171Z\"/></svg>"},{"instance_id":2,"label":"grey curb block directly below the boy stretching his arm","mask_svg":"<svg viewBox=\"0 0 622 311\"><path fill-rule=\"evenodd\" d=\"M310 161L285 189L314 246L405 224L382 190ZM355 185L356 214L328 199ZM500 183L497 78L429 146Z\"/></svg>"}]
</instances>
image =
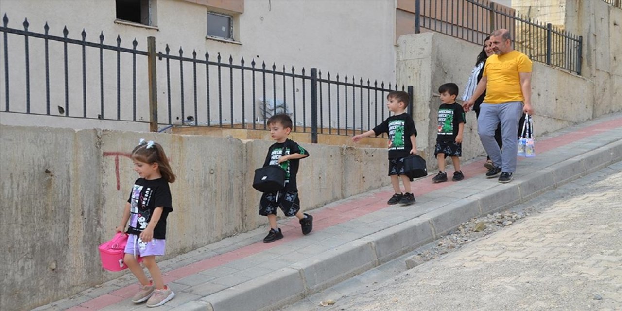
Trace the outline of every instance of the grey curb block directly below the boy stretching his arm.
<instances>
[{"instance_id":1,"label":"grey curb block directly below the boy stretching his arm","mask_svg":"<svg viewBox=\"0 0 622 311\"><path fill-rule=\"evenodd\" d=\"M412 249L432 241L433 235L427 219L415 218L362 238L373 243L376 258L386 262Z\"/></svg>"}]
</instances>

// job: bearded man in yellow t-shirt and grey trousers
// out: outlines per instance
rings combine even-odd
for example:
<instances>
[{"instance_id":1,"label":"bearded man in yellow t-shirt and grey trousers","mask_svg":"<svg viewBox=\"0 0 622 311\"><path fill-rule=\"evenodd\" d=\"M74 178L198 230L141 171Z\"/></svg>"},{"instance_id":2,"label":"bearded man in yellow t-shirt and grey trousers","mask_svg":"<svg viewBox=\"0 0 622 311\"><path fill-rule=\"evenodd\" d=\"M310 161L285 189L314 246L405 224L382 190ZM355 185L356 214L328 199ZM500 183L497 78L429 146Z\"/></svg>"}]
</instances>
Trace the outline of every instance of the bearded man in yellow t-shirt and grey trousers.
<instances>
[{"instance_id":1,"label":"bearded man in yellow t-shirt and grey trousers","mask_svg":"<svg viewBox=\"0 0 622 311\"><path fill-rule=\"evenodd\" d=\"M516 170L516 133L522 112L534 113L531 106L531 60L512 47L507 29L498 29L490 35L494 55L486 60L484 73L471 98L462 106L469 111L475 99L486 91L477 119L482 146L493 161L486 172L487 178L499 175L499 182L512 180ZM494 140L494 131L501 123L503 152Z\"/></svg>"}]
</instances>

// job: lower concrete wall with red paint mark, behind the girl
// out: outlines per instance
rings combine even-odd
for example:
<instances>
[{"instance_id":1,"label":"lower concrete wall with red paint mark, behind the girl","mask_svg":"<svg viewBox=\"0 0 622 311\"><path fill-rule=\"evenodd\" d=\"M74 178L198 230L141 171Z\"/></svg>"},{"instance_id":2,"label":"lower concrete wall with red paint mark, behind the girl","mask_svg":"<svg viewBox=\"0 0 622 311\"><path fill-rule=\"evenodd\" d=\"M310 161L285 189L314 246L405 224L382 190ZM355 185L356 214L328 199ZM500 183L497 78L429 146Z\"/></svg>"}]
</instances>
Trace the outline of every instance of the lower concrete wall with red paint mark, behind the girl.
<instances>
[{"instance_id":1,"label":"lower concrete wall with red paint mark, behind the girl","mask_svg":"<svg viewBox=\"0 0 622 311\"><path fill-rule=\"evenodd\" d=\"M165 147L178 179L167 256L265 225L251 187L270 141L145 132L1 126L2 310L27 310L125 272L103 271L97 246L114 234L132 182L128 157L144 137ZM305 211L387 185L386 150L304 145ZM32 295L37 289L37 295Z\"/></svg>"}]
</instances>

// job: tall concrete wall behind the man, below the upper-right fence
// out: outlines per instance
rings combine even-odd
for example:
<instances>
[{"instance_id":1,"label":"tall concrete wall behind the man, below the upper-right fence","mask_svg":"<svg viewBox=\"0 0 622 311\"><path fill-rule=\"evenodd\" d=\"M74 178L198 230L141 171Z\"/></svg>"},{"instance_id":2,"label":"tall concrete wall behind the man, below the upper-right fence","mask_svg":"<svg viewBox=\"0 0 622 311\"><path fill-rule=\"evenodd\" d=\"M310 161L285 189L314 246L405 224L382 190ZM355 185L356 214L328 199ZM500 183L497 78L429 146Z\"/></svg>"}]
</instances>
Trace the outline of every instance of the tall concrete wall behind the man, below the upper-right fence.
<instances>
[{"instance_id":1,"label":"tall concrete wall behind the man, below the upper-right fence","mask_svg":"<svg viewBox=\"0 0 622 311\"><path fill-rule=\"evenodd\" d=\"M413 118L419 131L417 147L427 155L429 168L435 167L437 164L432 148L435 146L440 105L437 90L443 83L454 82L460 88L460 98L481 47L433 32L402 35L398 42L397 81L415 85ZM460 55L455 51L460 51ZM602 96L596 86L598 83L598 80L534 62L532 103L536 109L536 137L595 118L605 111L620 111L620 104L613 106L610 101L595 100ZM605 81L600 85L610 83ZM484 154L473 112L466 114L462 151L463 160Z\"/></svg>"}]
</instances>

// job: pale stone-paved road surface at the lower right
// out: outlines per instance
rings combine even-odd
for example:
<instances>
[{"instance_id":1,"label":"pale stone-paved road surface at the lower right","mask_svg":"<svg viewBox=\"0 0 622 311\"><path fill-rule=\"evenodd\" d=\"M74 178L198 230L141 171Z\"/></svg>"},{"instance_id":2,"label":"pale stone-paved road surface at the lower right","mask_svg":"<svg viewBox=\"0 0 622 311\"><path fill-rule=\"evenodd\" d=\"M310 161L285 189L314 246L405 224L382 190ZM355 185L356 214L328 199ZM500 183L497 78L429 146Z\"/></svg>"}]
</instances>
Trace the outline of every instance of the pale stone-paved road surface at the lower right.
<instances>
[{"instance_id":1,"label":"pale stone-paved road surface at the lower right","mask_svg":"<svg viewBox=\"0 0 622 311\"><path fill-rule=\"evenodd\" d=\"M622 310L622 162L525 205L539 211L314 310Z\"/></svg>"}]
</instances>

